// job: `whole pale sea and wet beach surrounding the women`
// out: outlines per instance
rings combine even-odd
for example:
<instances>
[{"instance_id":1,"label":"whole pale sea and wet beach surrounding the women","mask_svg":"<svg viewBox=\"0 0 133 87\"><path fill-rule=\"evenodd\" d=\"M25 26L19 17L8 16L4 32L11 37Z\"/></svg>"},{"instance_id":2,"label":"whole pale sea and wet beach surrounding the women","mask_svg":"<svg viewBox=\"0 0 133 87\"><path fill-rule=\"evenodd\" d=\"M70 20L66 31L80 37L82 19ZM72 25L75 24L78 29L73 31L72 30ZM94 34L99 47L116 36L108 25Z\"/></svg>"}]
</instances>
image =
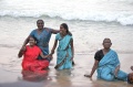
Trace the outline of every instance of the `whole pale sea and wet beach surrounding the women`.
<instances>
[{"instance_id":1,"label":"whole pale sea and wet beach surrounding the women","mask_svg":"<svg viewBox=\"0 0 133 87\"><path fill-rule=\"evenodd\" d=\"M105 37L112 41L111 48L119 55L121 69L132 73L132 0L0 0L0 87L132 87L122 80L98 79L96 72L92 80L84 77L90 74L94 54L103 48ZM61 23L69 25L73 34L75 66L55 70L55 51L47 75L31 74L23 78L22 57L18 58L18 53L25 37L37 29L39 19L44 20L44 26L55 30ZM50 51L54 40L55 34L52 34Z\"/></svg>"}]
</instances>

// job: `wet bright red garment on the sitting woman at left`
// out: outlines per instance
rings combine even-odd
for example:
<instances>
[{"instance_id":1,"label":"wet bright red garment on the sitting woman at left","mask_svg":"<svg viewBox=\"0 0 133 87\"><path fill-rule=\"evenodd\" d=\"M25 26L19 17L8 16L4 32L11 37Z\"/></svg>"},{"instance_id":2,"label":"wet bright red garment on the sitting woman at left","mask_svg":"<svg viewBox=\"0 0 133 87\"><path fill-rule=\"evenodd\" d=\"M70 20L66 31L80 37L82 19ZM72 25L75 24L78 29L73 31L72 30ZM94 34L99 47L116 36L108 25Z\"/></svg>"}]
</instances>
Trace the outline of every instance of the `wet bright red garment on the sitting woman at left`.
<instances>
[{"instance_id":1,"label":"wet bright red garment on the sitting woman at left","mask_svg":"<svg viewBox=\"0 0 133 87\"><path fill-rule=\"evenodd\" d=\"M48 68L49 62L47 59L37 59L40 53L41 50L38 46L30 47L27 45L22 61L22 69L35 73L45 73L44 69Z\"/></svg>"}]
</instances>

